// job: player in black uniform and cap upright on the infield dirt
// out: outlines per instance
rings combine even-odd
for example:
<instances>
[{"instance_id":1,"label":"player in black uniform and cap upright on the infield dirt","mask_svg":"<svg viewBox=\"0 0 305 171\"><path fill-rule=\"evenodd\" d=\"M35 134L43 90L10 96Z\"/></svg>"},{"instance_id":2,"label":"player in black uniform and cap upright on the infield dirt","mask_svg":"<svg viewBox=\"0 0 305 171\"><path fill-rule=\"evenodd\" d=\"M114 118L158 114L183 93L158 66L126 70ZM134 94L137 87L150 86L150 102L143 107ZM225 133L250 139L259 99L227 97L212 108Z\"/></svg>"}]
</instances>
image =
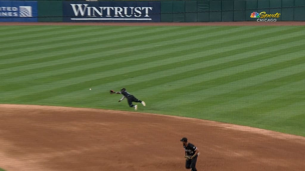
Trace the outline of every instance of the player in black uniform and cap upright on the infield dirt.
<instances>
[{"instance_id":1,"label":"player in black uniform and cap upright on the infield dirt","mask_svg":"<svg viewBox=\"0 0 305 171\"><path fill-rule=\"evenodd\" d=\"M183 148L185 150L185 168L191 169L191 171L197 171L196 162L199 150L197 149L197 147L195 147L195 145L189 143L188 139L185 137L182 138L180 141L183 143Z\"/></svg>"}]
</instances>

